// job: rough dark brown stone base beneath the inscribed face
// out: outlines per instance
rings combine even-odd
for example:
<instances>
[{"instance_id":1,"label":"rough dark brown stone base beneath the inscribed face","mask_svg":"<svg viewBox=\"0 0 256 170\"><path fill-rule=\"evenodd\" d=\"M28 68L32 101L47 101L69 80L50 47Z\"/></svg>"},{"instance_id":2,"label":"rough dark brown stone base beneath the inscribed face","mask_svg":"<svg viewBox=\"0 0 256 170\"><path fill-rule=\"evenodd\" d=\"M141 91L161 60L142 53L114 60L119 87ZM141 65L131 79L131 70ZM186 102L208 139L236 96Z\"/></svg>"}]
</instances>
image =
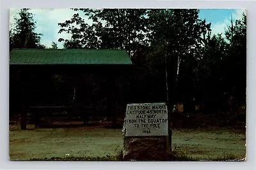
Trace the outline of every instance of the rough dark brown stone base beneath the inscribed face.
<instances>
[{"instance_id":1,"label":"rough dark brown stone base beneath the inscribed face","mask_svg":"<svg viewBox=\"0 0 256 170\"><path fill-rule=\"evenodd\" d=\"M126 136L123 160L168 160L168 150L168 136Z\"/></svg>"}]
</instances>

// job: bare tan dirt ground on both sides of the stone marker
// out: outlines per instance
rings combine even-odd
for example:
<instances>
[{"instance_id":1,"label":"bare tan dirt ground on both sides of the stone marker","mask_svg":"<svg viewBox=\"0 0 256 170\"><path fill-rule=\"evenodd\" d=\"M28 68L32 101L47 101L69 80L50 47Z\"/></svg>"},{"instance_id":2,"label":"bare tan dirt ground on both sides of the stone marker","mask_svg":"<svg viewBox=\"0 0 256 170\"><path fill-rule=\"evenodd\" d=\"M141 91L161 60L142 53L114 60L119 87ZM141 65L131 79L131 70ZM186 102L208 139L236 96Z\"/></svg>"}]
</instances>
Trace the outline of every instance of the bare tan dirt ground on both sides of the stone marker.
<instances>
[{"instance_id":1,"label":"bare tan dirt ground on both sides of the stone marker","mask_svg":"<svg viewBox=\"0 0 256 170\"><path fill-rule=\"evenodd\" d=\"M10 125L10 160L52 157L105 157L122 150L122 129L109 129L109 123L81 125L82 122L55 122L52 127ZM237 129L173 129L172 150L193 158L243 159L246 135Z\"/></svg>"}]
</instances>

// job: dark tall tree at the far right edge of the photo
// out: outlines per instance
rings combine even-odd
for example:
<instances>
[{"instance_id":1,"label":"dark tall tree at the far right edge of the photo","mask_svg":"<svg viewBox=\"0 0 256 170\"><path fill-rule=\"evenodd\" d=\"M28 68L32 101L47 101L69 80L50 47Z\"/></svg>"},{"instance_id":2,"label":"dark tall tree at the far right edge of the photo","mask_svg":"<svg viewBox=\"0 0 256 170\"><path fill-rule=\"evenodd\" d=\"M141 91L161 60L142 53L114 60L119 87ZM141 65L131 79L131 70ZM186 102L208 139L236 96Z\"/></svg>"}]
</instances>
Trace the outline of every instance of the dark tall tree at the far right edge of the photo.
<instances>
[{"instance_id":1,"label":"dark tall tree at the far right edge of the photo","mask_svg":"<svg viewBox=\"0 0 256 170\"><path fill-rule=\"evenodd\" d=\"M246 101L246 15L241 20L230 20L225 31L228 41L225 67L225 91L236 103ZM236 105L237 105L236 104Z\"/></svg>"}]
</instances>

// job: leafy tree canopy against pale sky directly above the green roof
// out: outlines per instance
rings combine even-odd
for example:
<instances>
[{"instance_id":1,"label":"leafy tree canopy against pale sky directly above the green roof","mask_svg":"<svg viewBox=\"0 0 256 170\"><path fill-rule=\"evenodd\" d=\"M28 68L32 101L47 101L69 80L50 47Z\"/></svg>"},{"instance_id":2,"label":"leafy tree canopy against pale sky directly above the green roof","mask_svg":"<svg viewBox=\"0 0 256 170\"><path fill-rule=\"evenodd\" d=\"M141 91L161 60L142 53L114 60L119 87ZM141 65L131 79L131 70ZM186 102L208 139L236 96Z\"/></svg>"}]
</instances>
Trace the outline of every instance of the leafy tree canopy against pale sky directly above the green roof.
<instances>
[{"instance_id":1,"label":"leafy tree canopy against pale sky directly above the green roof","mask_svg":"<svg viewBox=\"0 0 256 170\"><path fill-rule=\"evenodd\" d=\"M59 23L59 33L71 34L70 39L59 39L60 42L65 41L66 48L126 49L132 54L138 46L145 44L147 18L144 9L80 8L74 11L83 11L86 20L76 13L70 20Z\"/></svg>"}]
</instances>

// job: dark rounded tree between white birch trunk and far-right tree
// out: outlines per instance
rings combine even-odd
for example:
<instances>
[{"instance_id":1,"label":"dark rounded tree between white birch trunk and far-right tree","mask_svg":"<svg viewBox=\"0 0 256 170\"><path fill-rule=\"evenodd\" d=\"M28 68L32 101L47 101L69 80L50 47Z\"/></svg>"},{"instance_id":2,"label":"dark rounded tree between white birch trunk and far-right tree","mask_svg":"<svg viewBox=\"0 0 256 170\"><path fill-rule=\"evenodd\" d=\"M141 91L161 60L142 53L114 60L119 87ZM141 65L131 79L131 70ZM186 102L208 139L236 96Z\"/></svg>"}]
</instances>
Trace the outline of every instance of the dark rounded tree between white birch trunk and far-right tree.
<instances>
[{"instance_id":1,"label":"dark rounded tree between white birch trunk and far-right tree","mask_svg":"<svg viewBox=\"0 0 256 170\"><path fill-rule=\"evenodd\" d=\"M195 94L198 101L209 113L224 107L223 94L225 84L225 67L223 60L227 57L227 41L221 34L206 36L200 59L195 66Z\"/></svg>"}]
</instances>

